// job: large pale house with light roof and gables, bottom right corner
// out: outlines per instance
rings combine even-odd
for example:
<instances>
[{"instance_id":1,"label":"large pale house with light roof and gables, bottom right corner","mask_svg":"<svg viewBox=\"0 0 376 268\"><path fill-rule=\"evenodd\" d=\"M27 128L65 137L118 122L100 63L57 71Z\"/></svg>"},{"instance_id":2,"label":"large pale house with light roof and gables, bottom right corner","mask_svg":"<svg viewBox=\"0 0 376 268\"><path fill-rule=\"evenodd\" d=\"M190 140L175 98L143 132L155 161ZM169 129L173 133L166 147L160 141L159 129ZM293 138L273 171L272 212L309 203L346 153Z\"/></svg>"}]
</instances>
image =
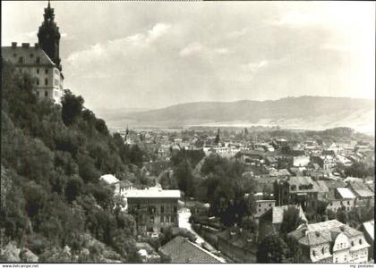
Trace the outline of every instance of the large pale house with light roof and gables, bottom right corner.
<instances>
[{"instance_id":1,"label":"large pale house with light roof and gables, bottom right corner","mask_svg":"<svg viewBox=\"0 0 376 268\"><path fill-rule=\"evenodd\" d=\"M294 249L295 263L351 264L366 263L370 245L362 231L331 220L302 224L287 234Z\"/></svg>"}]
</instances>

